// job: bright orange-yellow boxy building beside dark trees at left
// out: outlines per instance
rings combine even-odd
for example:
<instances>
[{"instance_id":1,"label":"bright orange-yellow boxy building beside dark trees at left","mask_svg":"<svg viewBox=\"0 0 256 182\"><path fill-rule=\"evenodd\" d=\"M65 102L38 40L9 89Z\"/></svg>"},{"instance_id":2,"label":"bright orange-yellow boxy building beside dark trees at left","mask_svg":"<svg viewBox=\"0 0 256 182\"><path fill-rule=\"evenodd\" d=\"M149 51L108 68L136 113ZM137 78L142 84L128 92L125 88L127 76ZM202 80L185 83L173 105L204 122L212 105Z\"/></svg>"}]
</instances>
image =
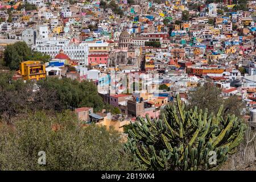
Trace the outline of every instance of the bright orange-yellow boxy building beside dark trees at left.
<instances>
[{"instance_id":1,"label":"bright orange-yellow boxy building beside dark trees at left","mask_svg":"<svg viewBox=\"0 0 256 182\"><path fill-rule=\"evenodd\" d=\"M38 81L46 78L46 65L40 61L23 61L19 69L23 80Z\"/></svg>"}]
</instances>

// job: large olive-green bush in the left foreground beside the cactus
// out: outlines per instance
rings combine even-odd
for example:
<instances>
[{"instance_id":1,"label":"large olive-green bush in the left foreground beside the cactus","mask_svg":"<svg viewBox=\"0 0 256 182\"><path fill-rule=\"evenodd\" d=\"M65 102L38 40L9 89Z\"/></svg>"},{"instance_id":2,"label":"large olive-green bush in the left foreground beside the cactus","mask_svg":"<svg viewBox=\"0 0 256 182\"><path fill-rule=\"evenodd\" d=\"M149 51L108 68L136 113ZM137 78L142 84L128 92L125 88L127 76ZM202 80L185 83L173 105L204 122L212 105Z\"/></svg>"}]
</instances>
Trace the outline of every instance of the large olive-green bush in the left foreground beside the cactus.
<instances>
[{"instance_id":1,"label":"large olive-green bush in the left foreground beside the cactus","mask_svg":"<svg viewBox=\"0 0 256 182\"><path fill-rule=\"evenodd\" d=\"M5 142L3 142L5 141ZM46 152L46 165L38 152ZM105 127L81 127L69 111L17 118L0 125L0 170L134 170L121 136Z\"/></svg>"}]
</instances>

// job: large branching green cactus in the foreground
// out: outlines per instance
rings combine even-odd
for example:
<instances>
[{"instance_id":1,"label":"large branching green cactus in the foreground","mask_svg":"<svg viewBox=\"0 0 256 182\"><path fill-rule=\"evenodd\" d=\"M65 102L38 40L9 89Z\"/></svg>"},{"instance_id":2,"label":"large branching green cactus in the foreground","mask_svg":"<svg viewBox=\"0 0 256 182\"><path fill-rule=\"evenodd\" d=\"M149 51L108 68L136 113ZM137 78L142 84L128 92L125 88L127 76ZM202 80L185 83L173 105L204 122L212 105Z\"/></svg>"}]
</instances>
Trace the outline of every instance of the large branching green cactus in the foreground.
<instances>
[{"instance_id":1,"label":"large branching green cactus in the foreground","mask_svg":"<svg viewBox=\"0 0 256 182\"><path fill-rule=\"evenodd\" d=\"M167 105L163 119L139 118L129 130L126 152L145 170L205 170L220 167L243 139L245 124L234 115ZM216 164L210 163L216 154Z\"/></svg>"}]
</instances>

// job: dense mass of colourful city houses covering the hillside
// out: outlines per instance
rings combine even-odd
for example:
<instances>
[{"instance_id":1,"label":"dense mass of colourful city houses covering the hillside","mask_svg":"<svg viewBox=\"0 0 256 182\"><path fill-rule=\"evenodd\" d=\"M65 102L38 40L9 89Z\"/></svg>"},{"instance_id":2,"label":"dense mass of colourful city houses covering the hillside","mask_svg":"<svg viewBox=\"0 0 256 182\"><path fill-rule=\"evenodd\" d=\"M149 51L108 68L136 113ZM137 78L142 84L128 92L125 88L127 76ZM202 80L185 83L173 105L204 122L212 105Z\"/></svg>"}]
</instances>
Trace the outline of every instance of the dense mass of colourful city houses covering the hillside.
<instances>
[{"instance_id":1,"label":"dense mass of colourful city houses covering the hillside","mask_svg":"<svg viewBox=\"0 0 256 182\"><path fill-rule=\"evenodd\" d=\"M36 9L26 10L26 3ZM93 81L120 114L96 114L89 107L75 112L118 130L139 116L158 118L177 93L187 102L189 90L208 80L224 98L236 94L253 109L256 1L247 1L246 10L237 6L232 0L4 0L0 56L6 45L23 41L51 61L24 61L16 77Z\"/></svg>"}]
</instances>

